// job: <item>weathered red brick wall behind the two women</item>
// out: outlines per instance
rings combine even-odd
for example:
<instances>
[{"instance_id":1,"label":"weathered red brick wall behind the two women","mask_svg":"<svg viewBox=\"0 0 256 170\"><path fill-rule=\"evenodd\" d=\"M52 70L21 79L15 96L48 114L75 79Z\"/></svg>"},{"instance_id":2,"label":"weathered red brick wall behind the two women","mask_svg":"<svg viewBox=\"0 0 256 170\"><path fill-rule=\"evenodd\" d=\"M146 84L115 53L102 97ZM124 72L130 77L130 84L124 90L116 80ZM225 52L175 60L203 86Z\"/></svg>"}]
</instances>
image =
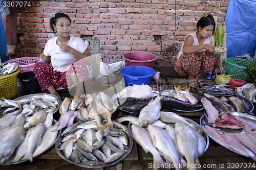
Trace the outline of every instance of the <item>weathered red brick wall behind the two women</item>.
<instances>
[{"instance_id":1,"label":"weathered red brick wall behind the two women","mask_svg":"<svg viewBox=\"0 0 256 170\"><path fill-rule=\"evenodd\" d=\"M100 40L101 57L106 63L120 61L123 54L131 51L145 51L158 56L156 64L172 64L176 55L165 53L170 45L181 43L187 34L196 31L196 22L204 13L217 15L218 22L223 22L228 3L229 0L35 1L33 7L18 9L18 57L39 56L47 40L55 36L50 18L63 12L72 20L73 36L89 41L96 36Z\"/></svg>"}]
</instances>

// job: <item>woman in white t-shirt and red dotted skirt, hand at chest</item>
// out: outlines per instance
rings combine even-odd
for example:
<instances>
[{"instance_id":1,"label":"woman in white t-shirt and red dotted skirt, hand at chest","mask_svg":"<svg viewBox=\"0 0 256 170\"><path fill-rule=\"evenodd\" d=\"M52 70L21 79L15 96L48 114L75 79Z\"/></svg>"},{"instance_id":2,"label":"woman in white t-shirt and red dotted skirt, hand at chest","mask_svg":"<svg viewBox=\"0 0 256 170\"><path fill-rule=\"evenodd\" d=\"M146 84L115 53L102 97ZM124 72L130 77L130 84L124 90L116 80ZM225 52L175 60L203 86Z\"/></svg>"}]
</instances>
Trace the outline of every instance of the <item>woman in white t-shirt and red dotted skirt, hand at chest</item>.
<instances>
[{"instance_id":1,"label":"woman in white t-shirt and red dotted skirt, hand at chest","mask_svg":"<svg viewBox=\"0 0 256 170\"><path fill-rule=\"evenodd\" d=\"M46 43L44 60L35 63L34 73L42 91L49 90L60 97L55 87L72 85L71 75L84 81L90 79L87 65L92 64L92 57L88 45L81 38L70 36L71 19L68 15L56 13L50 25L57 37Z\"/></svg>"}]
</instances>

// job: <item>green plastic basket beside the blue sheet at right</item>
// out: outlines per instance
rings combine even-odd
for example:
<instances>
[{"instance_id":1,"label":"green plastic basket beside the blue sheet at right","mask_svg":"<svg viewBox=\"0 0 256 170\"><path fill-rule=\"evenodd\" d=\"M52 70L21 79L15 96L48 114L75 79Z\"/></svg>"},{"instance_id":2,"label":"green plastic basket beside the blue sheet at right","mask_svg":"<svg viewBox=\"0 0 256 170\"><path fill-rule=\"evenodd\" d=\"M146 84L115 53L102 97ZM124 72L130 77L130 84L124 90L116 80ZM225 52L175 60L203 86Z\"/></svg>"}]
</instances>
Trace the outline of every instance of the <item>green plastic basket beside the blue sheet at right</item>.
<instances>
[{"instance_id":1,"label":"green plastic basket beside the blue sheet at right","mask_svg":"<svg viewBox=\"0 0 256 170\"><path fill-rule=\"evenodd\" d=\"M252 64L252 61L242 59L242 58L226 58L225 62L225 75L233 75L232 79L241 79L244 81L249 81L245 78L246 63Z\"/></svg>"}]
</instances>

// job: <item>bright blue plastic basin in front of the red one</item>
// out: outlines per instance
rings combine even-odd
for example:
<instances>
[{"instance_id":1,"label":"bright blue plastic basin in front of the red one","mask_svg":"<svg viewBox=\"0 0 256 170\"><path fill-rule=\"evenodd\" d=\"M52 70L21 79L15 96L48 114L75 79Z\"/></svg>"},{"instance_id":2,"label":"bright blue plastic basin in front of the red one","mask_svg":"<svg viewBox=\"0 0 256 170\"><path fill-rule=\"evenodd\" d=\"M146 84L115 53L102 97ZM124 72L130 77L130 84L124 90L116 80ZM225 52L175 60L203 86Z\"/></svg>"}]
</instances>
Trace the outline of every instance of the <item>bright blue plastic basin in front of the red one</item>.
<instances>
[{"instance_id":1,"label":"bright blue plastic basin in front of the red one","mask_svg":"<svg viewBox=\"0 0 256 170\"><path fill-rule=\"evenodd\" d=\"M134 84L151 84L155 70L151 67L142 65L131 65L121 68L120 73L123 75L125 86L133 86Z\"/></svg>"}]
</instances>

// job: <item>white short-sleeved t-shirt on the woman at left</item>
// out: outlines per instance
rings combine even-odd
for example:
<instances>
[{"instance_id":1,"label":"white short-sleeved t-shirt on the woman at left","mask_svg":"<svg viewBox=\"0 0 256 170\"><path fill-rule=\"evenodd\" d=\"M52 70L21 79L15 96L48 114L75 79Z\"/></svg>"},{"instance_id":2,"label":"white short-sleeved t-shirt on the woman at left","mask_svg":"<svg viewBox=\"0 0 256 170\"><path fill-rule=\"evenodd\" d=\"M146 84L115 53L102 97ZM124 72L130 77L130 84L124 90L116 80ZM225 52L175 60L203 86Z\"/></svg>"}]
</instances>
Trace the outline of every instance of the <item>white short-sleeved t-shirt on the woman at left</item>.
<instances>
[{"instance_id":1,"label":"white short-sleeved t-shirt on the woman at left","mask_svg":"<svg viewBox=\"0 0 256 170\"><path fill-rule=\"evenodd\" d=\"M45 56L51 56L51 62L54 70L65 72L69 69L71 64L77 59L71 53L64 52L59 45L57 45L58 37L54 37L47 41L44 54ZM70 37L68 45L74 48L76 51L83 53L88 47L80 37Z\"/></svg>"}]
</instances>

